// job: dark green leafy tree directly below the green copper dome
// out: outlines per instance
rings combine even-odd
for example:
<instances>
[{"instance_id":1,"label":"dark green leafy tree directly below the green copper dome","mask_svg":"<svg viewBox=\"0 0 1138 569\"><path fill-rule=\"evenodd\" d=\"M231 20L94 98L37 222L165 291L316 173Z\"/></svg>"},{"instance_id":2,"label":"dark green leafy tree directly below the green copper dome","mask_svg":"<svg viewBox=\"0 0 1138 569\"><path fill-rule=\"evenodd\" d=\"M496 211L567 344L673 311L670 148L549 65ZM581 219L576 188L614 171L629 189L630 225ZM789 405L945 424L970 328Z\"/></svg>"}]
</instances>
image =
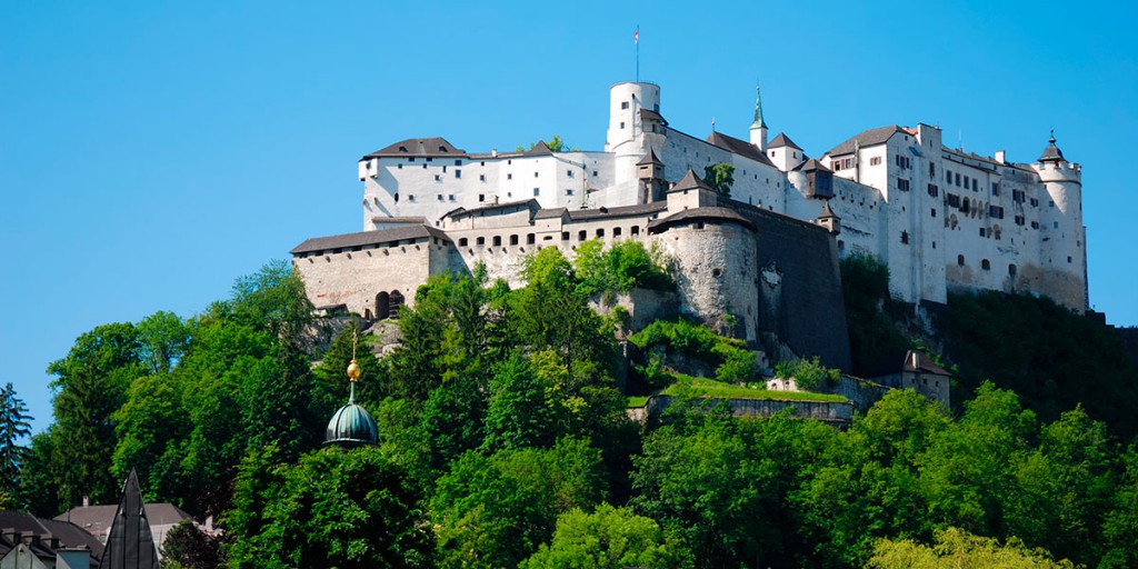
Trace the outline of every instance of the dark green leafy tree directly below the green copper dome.
<instances>
[{"instance_id":1,"label":"dark green leafy tree directly below the green copper dome","mask_svg":"<svg viewBox=\"0 0 1138 569\"><path fill-rule=\"evenodd\" d=\"M380 448L272 451L241 465L226 514L232 567L434 567L421 490Z\"/></svg>"}]
</instances>

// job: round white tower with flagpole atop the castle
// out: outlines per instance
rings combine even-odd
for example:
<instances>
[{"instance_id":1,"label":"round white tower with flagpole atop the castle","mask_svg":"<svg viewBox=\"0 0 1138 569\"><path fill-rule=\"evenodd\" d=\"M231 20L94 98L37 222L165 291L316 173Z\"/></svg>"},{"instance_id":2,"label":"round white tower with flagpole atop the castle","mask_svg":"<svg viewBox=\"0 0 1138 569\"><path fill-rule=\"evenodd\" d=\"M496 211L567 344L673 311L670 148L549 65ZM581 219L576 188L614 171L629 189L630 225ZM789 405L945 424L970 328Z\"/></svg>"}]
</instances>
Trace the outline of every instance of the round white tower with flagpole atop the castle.
<instances>
[{"instance_id":1,"label":"round white tower with flagpole atop the castle","mask_svg":"<svg viewBox=\"0 0 1138 569\"><path fill-rule=\"evenodd\" d=\"M648 151L641 110L660 113L660 85L617 83L609 89L609 132L604 151L613 152L616 182L636 181L636 163Z\"/></svg>"}]
</instances>

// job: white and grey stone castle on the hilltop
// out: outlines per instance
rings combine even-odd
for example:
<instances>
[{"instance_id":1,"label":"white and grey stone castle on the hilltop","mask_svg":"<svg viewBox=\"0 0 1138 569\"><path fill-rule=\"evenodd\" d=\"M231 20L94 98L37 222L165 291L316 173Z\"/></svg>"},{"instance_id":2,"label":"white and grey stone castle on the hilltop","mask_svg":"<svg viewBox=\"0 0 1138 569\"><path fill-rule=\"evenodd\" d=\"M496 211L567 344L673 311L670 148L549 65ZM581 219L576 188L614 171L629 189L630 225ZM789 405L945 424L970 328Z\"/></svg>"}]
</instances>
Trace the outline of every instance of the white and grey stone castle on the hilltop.
<instances>
[{"instance_id":1,"label":"white and grey stone castle on the hilltop","mask_svg":"<svg viewBox=\"0 0 1138 569\"><path fill-rule=\"evenodd\" d=\"M610 89L603 151L467 152L409 139L358 162L363 231L292 249L316 306L382 319L428 277L485 263L517 282L542 247L635 239L676 262L679 312L737 321L767 348L848 368L838 259L890 269L891 292L946 303L949 290L1047 295L1086 311L1081 167L1052 138L1034 163L946 148L938 127L884 126L817 157L768 141L756 98L749 140L670 127L652 83ZM734 167L729 195L700 175ZM772 347L772 344L780 347Z\"/></svg>"}]
</instances>

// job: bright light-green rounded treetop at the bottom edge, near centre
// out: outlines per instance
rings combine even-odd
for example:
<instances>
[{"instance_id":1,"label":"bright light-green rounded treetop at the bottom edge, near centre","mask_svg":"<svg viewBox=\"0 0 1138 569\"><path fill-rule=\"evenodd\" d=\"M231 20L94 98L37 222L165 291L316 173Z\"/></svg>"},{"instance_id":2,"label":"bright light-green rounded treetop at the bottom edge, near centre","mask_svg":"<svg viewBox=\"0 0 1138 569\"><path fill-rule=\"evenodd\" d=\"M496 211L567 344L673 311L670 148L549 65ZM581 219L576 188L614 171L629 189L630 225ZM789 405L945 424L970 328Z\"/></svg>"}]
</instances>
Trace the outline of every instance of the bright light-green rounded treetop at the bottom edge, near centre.
<instances>
[{"instance_id":1,"label":"bright light-green rounded treetop at the bottom edge, near centre","mask_svg":"<svg viewBox=\"0 0 1138 569\"><path fill-rule=\"evenodd\" d=\"M651 518L608 503L593 513L570 510L558 518L553 541L521 563L522 569L673 569L693 567L684 546Z\"/></svg>"}]
</instances>

